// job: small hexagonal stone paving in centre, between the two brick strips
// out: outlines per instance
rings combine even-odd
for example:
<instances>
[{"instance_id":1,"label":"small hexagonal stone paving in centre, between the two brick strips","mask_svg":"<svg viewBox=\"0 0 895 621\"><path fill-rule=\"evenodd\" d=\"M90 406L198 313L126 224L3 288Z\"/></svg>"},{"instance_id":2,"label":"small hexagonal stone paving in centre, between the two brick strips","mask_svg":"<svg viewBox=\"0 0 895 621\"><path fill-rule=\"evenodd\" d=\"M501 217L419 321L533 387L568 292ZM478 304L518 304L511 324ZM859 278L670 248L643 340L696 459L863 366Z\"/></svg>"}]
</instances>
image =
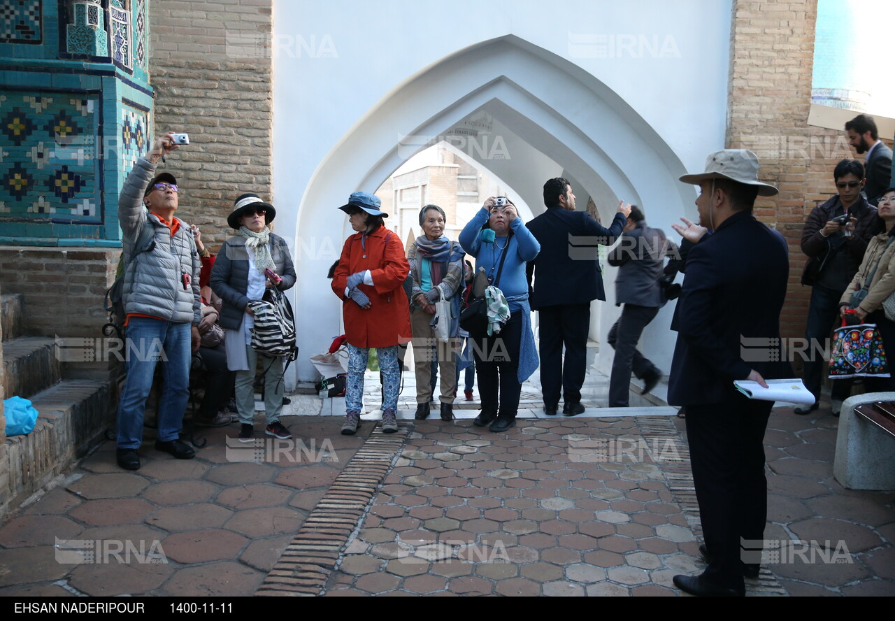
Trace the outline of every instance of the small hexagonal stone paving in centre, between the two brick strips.
<instances>
[{"instance_id":1,"label":"small hexagonal stone paving in centre, between the two brick strips","mask_svg":"<svg viewBox=\"0 0 895 621\"><path fill-rule=\"evenodd\" d=\"M660 460L686 457L668 419L417 423L327 594L676 595L702 564Z\"/></svg>"}]
</instances>

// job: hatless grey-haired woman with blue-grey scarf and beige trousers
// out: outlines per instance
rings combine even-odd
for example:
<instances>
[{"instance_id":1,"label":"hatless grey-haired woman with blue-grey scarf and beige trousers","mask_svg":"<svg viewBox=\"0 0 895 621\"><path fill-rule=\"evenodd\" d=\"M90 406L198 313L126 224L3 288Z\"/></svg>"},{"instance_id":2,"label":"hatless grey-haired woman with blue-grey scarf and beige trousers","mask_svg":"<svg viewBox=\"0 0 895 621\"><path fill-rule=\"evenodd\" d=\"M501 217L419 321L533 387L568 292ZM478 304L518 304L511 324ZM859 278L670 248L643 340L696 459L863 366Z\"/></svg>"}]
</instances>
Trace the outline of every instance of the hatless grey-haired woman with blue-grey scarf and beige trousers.
<instances>
[{"instance_id":1,"label":"hatless grey-haired woman with blue-grey scarf and beige trousers","mask_svg":"<svg viewBox=\"0 0 895 621\"><path fill-rule=\"evenodd\" d=\"M416 372L417 421L429 416L432 396L430 362L438 355L441 376L441 420L454 419L456 395L456 353L460 316L460 285L463 283L464 252L457 242L444 236L445 212L438 205L426 205L420 211L422 235L407 249L410 276L413 281L410 299L410 327L413 330L413 367ZM450 338L447 343L435 337L432 328L435 302L444 297L450 301ZM442 318L439 318L442 319Z\"/></svg>"}]
</instances>

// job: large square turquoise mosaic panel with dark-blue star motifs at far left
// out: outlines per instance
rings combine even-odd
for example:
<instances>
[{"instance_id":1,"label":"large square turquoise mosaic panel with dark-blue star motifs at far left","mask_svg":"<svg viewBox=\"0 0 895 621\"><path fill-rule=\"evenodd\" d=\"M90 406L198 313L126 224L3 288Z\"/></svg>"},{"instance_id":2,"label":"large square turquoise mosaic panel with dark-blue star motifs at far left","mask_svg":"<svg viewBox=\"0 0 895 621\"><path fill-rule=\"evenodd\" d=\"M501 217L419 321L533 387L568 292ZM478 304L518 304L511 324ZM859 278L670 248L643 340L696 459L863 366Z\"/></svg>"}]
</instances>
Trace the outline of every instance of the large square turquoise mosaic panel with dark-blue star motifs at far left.
<instances>
[{"instance_id":1,"label":"large square turquoise mosaic panel with dark-blue star motifs at far left","mask_svg":"<svg viewBox=\"0 0 895 621\"><path fill-rule=\"evenodd\" d=\"M0 214L95 222L102 161L98 99L6 92L0 95Z\"/></svg>"}]
</instances>

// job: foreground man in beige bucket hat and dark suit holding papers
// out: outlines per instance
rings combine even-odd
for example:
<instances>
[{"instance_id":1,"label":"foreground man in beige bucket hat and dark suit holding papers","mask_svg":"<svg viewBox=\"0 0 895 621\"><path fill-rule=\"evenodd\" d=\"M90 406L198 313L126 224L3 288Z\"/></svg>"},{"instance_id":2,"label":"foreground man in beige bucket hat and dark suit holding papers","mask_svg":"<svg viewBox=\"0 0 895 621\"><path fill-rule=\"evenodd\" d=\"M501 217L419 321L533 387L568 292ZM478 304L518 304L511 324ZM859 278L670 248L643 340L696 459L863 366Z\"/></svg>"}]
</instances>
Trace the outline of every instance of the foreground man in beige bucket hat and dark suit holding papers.
<instances>
[{"instance_id":1,"label":"foreground man in beige bucket hat and dark suit holding papers","mask_svg":"<svg viewBox=\"0 0 895 621\"><path fill-rule=\"evenodd\" d=\"M695 183L699 224L681 218L673 225L696 245L686 259L686 276L672 328L678 331L669 375L669 403L686 406L686 435L709 565L701 575L674 576L679 589L695 595L744 595L741 540L763 540L767 521L763 437L770 401L747 399L733 382L792 377L788 362L774 362L769 349L742 350L743 339L780 338L786 297L788 248L783 236L752 215L756 195L777 188L758 181L751 151L712 153ZM711 235L706 235L712 229ZM754 343L754 341L753 341ZM769 346L779 341L768 341ZM750 361L744 362L744 353ZM760 554L760 552L759 552ZM753 559L749 559L753 560Z\"/></svg>"}]
</instances>

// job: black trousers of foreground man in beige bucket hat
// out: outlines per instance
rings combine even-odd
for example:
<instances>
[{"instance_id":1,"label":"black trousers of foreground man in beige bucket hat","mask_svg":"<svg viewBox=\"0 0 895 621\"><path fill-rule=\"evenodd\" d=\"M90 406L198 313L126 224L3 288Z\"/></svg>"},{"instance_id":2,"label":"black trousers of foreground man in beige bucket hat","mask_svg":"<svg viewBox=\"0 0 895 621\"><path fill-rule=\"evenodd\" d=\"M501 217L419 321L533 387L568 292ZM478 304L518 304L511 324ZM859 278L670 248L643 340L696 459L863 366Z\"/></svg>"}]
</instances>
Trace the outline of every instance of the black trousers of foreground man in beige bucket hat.
<instances>
[{"instance_id":1,"label":"black trousers of foreground man in beige bucket hat","mask_svg":"<svg viewBox=\"0 0 895 621\"><path fill-rule=\"evenodd\" d=\"M686 406L686 437L705 547L712 562L703 576L742 590L740 540L761 541L768 518L764 477L764 430L770 401L753 401L730 387L730 396L710 405ZM759 555L760 544L746 545ZM746 561L754 564L754 557Z\"/></svg>"}]
</instances>

